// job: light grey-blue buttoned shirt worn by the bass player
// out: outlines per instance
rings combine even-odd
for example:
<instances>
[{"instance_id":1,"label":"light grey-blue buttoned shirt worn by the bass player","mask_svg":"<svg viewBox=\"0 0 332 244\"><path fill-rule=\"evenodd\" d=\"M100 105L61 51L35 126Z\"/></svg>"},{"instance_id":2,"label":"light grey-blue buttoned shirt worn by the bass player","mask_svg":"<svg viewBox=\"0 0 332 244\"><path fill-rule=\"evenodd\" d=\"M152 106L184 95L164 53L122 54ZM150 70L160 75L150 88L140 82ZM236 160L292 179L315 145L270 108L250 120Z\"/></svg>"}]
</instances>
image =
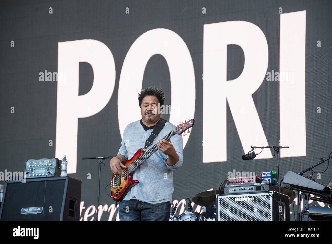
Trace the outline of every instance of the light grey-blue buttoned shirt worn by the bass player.
<instances>
[{"instance_id":1,"label":"light grey-blue buttoned shirt worn by the bass player","mask_svg":"<svg viewBox=\"0 0 332 244\"><path fill-rule=\"evenodd\" d=\"M145 129L144 129L145 128ZM144 148L145 141L149 138L153 127L147 127L137 120L127 125L124 129L121 148L118 154L130 159L138 149ZM170 122L166 122L164 128L154 139L149 150L158 140L164 138L172 129L176 128ZM133 179L139 183L133 186L124 197L124 200L136 199L146 203L172 203L173 170L181 167L183 162L183 143L182 136L175 134L171 139L179 161L173 166L167 164L167 155L157 150L146 159L134 172Z\"/></svg>"}]
</instances>

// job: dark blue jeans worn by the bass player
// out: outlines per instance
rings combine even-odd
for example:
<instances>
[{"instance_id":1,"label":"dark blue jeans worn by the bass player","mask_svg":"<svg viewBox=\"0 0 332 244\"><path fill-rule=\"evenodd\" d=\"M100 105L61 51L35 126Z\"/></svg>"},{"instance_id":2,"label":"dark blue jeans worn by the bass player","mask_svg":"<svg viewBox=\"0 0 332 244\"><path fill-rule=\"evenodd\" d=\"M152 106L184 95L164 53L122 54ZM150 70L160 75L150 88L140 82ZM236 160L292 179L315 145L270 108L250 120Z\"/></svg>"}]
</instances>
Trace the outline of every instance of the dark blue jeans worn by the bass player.
<instances>
[{"instance_id":1,"label":"dark blue jeans worn by the bass player","mask_svg":"<svg viewBox=\"0 0 332 244\"><path fill-rule=\"evenodd\" d=\"M120 221L168 221L170 213L170 202L150 204L130 199L119 203Z\"/></svg>"}]
</instances>

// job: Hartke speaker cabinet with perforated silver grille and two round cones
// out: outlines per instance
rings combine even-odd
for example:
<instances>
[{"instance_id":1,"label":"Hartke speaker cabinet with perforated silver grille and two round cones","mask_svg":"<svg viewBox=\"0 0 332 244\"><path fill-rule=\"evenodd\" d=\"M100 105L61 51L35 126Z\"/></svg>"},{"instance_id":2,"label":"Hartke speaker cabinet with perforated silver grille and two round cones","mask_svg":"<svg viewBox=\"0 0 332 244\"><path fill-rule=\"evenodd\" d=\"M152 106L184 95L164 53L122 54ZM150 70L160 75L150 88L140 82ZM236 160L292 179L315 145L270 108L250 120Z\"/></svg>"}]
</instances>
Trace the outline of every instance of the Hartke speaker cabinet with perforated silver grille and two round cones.
<instances>
[{"instance_id":1,"label":"Hartke speaker cabinet with perforated silver grille and two round cones","mask_svg":"<svg viewBox=\"0 0 332 244\"><path fill-rule=\"evenodd\" d=\"M219 194L217 221L290 221L289 196L275 191L247 194Z\"/></svg>"}]
</instances>

